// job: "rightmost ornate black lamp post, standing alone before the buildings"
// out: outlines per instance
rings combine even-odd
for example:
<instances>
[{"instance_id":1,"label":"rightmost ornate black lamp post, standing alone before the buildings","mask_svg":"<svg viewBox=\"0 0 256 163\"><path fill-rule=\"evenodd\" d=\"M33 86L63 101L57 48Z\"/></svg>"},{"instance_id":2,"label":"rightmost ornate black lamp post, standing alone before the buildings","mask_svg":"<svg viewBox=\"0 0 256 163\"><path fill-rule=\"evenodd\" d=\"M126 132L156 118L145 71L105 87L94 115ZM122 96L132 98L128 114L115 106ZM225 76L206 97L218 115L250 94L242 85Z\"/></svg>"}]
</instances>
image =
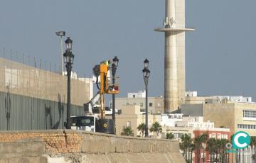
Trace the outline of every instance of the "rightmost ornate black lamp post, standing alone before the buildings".
<instances>
[{"instance_id":1,"label":"rightmost ornate black lamp post, standing alone before the buildings","mask_svg":"<svg viewBox=\"0 0 256 163\"><path fill-rule=\"evenodd\" d=\"M149 117L148 117L148 83L149 83L149 60L144 60L144 69L143 72L143 78L145 82L146 87L146 128L145 128L145 137L149 137Z\"/></svg>"}]
</instances>

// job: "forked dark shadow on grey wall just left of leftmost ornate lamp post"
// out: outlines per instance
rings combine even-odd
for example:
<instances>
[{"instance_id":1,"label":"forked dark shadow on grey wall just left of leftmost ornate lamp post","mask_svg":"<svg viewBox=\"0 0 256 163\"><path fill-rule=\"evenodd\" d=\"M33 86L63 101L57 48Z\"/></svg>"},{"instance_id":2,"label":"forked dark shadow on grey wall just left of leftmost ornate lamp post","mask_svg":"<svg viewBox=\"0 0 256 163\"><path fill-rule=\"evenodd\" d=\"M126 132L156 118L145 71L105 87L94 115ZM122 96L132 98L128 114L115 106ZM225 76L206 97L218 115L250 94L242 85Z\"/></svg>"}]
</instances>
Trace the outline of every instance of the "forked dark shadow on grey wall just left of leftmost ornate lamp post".
<instances>
[{"instance_id":1,"label":"forked dark shadow on grey wall just left of leftmost ornate lamp post","mask_svg":"<svg viewBox=\"0 0 256 163\"><path fill-rule=\"evenodd\" d=\"M60 125L61 118L63 117L64 112L64 106L61 102L60 94L58 94L58 121L53 125L53 117L52 117L52 111L50 106L46 106L45 104L45 115L46 115L46 129L58 129L62 128L62 125ZM50 124L48 124L50 122Z\"/></svg>"}]
</instances>

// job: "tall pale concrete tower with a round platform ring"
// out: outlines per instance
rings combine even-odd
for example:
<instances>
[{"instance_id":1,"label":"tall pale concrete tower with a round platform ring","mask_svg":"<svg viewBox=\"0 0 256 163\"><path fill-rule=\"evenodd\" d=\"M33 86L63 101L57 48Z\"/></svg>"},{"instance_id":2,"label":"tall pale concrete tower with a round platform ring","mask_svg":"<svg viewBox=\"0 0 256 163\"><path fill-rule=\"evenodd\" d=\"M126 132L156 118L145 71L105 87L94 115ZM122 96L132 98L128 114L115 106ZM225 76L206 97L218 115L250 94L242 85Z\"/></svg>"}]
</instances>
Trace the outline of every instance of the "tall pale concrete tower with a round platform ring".
<instances>
[{"instance_id":1,"label":"tall pale concrete tower with a round platform ring","mask_svg":"<svg viewBox=\"0 0 256 163\"><path fill-rule=\"evenodd\" d=\"M164 27L164 112L171 113L185 101L185 0L166 0Z\"/></svg>"}]
</instances>

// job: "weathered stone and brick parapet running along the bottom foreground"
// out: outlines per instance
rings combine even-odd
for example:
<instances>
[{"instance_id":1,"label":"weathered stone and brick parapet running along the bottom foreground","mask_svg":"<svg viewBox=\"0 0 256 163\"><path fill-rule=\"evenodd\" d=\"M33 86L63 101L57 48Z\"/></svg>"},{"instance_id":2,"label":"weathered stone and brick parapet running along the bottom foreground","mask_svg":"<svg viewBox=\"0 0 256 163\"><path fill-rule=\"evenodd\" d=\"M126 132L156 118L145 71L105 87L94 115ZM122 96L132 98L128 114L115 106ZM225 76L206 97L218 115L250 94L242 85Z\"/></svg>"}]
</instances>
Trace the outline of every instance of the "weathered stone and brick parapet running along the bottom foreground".
<instances>
[{"instance_id":1,"label":"weathered stone and brick parapet running along the bottom foreground","mask_svg":"<svg viewBox=\"0 0 256 163\"><path fill-rule=\"evenodd\" d=\"M175 140L125 137L80 130L0 132L0 158L6 162L21 162L26 158L26 162L44 162L43 154L48 157L80 154L82 162L101 162L101 159L110 162L126 159L129 162L152 162L156 159L184 162ZM15 156L19 159L15 159Z\"/></svg>"}]
</instances>

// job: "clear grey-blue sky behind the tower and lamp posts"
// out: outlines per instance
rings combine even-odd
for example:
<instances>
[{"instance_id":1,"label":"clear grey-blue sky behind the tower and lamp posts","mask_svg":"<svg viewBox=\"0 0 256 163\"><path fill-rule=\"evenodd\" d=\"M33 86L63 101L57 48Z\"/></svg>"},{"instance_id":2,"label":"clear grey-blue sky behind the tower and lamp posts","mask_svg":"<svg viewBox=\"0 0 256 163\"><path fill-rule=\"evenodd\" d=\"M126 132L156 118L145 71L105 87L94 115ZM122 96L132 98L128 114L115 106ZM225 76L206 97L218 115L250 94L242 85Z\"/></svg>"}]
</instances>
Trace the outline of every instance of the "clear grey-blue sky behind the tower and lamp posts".
<instances>
[{"instance_id":1,"label":"clear grey-blue sky behind the tower and lamp posts","mask_svg":"<svg viewBox=\"0 0 256 163\"><path fill-rule=\"evenodd\" d=\"M73 40L74 69L92 77L92 67L119 57L121 92L144 89L149 60L149 96L164 94L164 0L2 0L0 57L22 54L59 64L65 30ZM198 95L252 96L256 101L256 1L186 1L186 90ZM4 49L4 50L3 50ZM13 56L13 57L14 57ZM15 58L15 57L14 57ZM95 87L96 89L96 87Z\"/></svg>"}]
</instances>

